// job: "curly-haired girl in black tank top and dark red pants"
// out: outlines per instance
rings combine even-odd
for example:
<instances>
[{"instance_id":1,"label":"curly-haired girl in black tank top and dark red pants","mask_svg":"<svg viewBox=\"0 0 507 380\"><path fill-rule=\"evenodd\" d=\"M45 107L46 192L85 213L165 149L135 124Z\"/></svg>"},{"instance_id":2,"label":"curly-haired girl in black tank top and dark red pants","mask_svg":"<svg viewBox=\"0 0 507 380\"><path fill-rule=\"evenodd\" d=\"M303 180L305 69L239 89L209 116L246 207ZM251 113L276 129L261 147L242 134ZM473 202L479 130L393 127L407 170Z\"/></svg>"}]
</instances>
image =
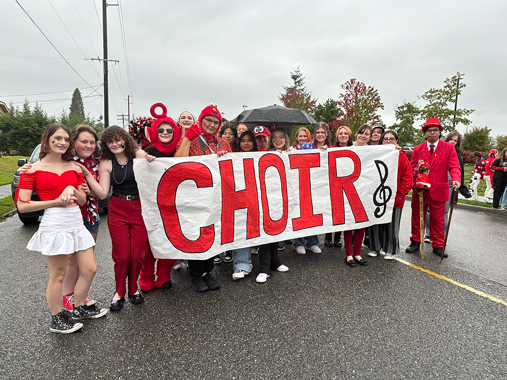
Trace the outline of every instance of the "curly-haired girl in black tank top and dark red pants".
<instances>
[{"instance_id":1,"label":"curly-haired girl in black tank top and dark red pants","mask_svg":"<svg viewBox=\"0 0 507 380\"><path fill-rule=\"evenodd\" d=\"M148 249L148 233L141 216L141 201L134 176L135 158L152 161L155 157L139 149L123 128L111 126L100 136L102 161L98 166L99 181L81 165L88 186L100 199L105 199L113 186L107 206L107 226L113 245L116 290L110 310L118 311L125 303L128 279L128 299L134 304L143 302L137 289L137 278Z\"/></svg>"}]
</instances>

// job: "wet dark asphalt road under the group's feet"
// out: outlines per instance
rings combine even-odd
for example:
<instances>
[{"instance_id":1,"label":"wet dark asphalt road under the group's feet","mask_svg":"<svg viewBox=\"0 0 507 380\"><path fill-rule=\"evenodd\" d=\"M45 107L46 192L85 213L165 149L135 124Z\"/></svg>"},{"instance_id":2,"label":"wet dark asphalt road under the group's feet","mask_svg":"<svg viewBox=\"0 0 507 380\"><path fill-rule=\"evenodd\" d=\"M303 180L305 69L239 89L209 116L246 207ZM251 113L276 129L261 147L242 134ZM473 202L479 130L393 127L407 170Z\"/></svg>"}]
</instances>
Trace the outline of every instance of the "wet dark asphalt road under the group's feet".
<instances>
[{"instance_id":1,"label":"wet dark asphalt road under the group's feet","mask_svg":"<svg viewBox=\"0 0 507 380\"><path fill-rule=\"evenodd\" d=\"M483 295L398 260L352 269L342 249L298 255L287 247L280 257L290 270L265 284L255 282L257 256L238 282L232 264L215 267L215 292L194 292L186 271L176 271L172 289L69 335L48 328L45 259L25 248L37 226L10 218L0 223L0 378L507 378L507 303L491 299L507 300L507 212L456 209L443 263L429 244L424 260L404 252L409 212L407 202L399 258ZM90 293L108 306L105 215L102 223Z\"/></svg>"}]
</instances>

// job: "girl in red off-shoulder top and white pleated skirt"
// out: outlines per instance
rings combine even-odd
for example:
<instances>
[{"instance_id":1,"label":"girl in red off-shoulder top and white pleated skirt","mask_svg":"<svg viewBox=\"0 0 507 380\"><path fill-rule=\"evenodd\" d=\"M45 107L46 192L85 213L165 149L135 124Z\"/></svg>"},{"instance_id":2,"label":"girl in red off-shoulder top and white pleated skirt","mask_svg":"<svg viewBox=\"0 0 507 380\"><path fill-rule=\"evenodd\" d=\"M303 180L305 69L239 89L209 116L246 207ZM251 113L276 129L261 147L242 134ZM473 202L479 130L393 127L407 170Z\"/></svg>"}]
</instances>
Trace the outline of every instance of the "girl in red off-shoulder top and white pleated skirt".
<instances>
[{"instance_id":1,"label":"girl in red off-shoulder top and white pleated skirt","mask_svg":"<svg viewBox=\"0 0 507 380\"><path fill-rule=\"evenodd\" d=\"M84 175L78 166L68 162L73 146L66 126L50 124L42 136L40 160L28 172L21 174L16 192L16 205L20 212L45 210L39 230L26 247L46 256L49 267L46 299L52 315L50 331L61 333L83 327L82 323L74 320L99 318L107 313L107 309L92 309L85 305L97 267L93 255L95 242L83 224L78 207L78 204L86 202L81 186ZM33 189L40 201L30 201ZM74 256L81 273L75 287L75 308L71 319L60 309L68 254Z\"/></svg>"}]
</instances>

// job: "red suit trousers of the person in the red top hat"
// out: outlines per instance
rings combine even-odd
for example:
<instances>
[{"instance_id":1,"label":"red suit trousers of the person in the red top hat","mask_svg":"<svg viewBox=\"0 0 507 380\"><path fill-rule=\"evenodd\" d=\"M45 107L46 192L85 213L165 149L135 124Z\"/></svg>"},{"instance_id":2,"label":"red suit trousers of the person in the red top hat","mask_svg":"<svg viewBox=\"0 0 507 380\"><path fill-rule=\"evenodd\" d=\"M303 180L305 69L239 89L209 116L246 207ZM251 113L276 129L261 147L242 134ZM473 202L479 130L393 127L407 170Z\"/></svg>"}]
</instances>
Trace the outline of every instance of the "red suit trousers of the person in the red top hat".
<instances>
[{"instance_id":1,"label":"red suit trousers of the person in the red top hat","mask_svg":"<svg viewBox=\"0 0 507 380\"><path fill-rule=\"evenodd\" d=\"M434 248L444 246L444 213L445 202L433 201L429 191L424 192L423 210L424 221L429 207L429 239ZM419 226L419 196L412 192L412 236L413 242L421 242L421 229Z\"/></svg>"}]
</instances>

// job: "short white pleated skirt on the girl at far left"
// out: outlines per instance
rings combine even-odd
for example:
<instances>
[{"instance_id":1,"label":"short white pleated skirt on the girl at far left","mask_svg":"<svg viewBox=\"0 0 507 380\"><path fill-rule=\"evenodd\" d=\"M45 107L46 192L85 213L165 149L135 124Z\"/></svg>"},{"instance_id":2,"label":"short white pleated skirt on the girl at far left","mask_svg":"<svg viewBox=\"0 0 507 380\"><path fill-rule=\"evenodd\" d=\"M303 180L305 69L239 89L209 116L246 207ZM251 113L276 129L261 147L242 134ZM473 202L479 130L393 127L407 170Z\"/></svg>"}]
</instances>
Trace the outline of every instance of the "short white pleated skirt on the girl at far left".
<instances>
[{"instance_id":1,"label":"short white pleated skirt on the girl at far left","mask_svg":"<svg viewBox=\"0 0 507 380\"><path fill-rule=\"evenodd\" d=\"M68 255L93 247L95 241L83 224L79 207L51 207L44 210L39 230L26 248L46 256Z\"/></svg>"}]
</instances>

